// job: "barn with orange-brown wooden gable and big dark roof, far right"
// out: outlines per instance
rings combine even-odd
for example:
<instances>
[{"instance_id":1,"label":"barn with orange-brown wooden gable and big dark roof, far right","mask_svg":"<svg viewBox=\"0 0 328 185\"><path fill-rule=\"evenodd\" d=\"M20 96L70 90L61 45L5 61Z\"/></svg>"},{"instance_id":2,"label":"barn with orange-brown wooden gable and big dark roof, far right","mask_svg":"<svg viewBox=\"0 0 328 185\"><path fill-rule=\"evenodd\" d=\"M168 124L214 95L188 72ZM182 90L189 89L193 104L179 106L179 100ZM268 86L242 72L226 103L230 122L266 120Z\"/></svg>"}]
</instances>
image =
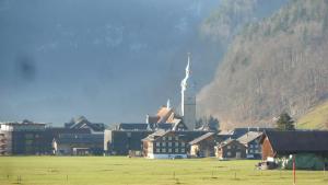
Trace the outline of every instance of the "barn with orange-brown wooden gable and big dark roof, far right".
<instances>
[{"instance_id":1,"label":"barn with orange-brown wooden gable and big dark roof, far right","mask_svg":"<svg viewBox=\"0 0 328 185\"><path fill-rule=\"evenodd\" d=\"M260 139L262 160L281 163L281 167L292 167L292 157L296 158L296 169L323 170L328 159L328 131L295 130L266 131Z\"/></svg>"}]
</instances>

